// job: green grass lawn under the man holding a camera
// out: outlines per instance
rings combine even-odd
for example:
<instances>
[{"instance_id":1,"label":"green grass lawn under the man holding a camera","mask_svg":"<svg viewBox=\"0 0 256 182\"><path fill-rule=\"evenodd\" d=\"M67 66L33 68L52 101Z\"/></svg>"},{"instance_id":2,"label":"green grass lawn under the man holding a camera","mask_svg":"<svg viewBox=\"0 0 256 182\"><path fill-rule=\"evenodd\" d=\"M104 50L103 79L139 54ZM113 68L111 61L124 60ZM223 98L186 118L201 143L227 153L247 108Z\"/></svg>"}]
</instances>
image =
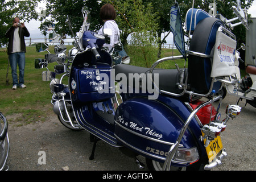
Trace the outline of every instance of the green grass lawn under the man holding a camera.
<instances>
[{"instance_id":1,"label":"green grass lawn under the man holding a camera","mask_svg":"<svg viewBox=\"0 0 256 182\"><path fill-rule=\"evenodd\" d=\"M11 89L13 78L10 66L6 77L8 55L6 52L0 52L0 111L5 115L22 113L22 117L16 118L15 121L26 123L44 121L48 114L52 114L50 103L52 94L49 89L49 82L42 81L42 71L46 71L46 69L35 69L34 60L44 58L47 52L38 53L35 51L35 46L26 48L24 84L27 88L25 89ZM50 47L49 51L53 53L53 47ZM49 65L50 70L53 70L51 69L53 66L54 64ZM9 85L7 85L6 80L9 80Z\"/></svg>"}]
</instances>

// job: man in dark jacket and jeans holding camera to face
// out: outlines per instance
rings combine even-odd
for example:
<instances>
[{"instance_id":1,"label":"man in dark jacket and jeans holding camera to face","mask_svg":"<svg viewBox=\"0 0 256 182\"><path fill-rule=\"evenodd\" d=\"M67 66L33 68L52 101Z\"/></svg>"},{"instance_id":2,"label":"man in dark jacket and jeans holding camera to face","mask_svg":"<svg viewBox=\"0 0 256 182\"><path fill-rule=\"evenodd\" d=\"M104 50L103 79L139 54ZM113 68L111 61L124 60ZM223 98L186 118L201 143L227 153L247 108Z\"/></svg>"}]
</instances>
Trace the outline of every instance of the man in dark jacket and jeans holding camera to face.
<instances>
[{"instance_id":1,"label":"man in dark jacket and jeans holding camera to face","mask_svg":"<svg viewBox=\"0 0 256 182\"><path fill-rule=\"evenodd\" d=\"M26 88L24 85L24 69L25 69L25 52L26 44L24 36L30 36L24 23L19 22L19 18L15 17L13 20L13 26L5 34L6 38L9 38L9 44L7 48L7 54L9 55L11 65L11 75L13 76L13 90L20 88ZM19 82L17 76L17 64L19 66Z\"/></svg>"}]
</instances>

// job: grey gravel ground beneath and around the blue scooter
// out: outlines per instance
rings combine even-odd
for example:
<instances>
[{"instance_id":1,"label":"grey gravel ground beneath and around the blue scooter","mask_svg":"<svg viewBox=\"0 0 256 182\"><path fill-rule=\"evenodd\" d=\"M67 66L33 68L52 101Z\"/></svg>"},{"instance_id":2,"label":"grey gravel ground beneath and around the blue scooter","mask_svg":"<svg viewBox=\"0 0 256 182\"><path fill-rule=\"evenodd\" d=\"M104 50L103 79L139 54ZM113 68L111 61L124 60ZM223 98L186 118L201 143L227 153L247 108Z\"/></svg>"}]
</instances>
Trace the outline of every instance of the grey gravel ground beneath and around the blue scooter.
<instances>
[{"instance_id":1,"label":"grey gravel ground beneath and around the blue scooter","mask_svg":"<svg viewBox=\"0 0 256 182\"><path fill-rule=\"evenodd\" d=\"M235 104L236 98L227 96L222 101L222 115L226 104ZM242 112L229 121L222 143L228 156L214 171L254 171L256 169L255 108L240 102ZM19 115L6 115L6 118ZM89 160L93 144L86 131L72 131L64 127L57 116L50 114L47 121L25 126L9 122L10 154L7 164L10 171L147 171L139 169L133 158L128 158L118 148L98 142L94 160ZM43 151L46 163L42 164ZM144 158L139 156L141 162Z\"/></svg>"}]
</instances>

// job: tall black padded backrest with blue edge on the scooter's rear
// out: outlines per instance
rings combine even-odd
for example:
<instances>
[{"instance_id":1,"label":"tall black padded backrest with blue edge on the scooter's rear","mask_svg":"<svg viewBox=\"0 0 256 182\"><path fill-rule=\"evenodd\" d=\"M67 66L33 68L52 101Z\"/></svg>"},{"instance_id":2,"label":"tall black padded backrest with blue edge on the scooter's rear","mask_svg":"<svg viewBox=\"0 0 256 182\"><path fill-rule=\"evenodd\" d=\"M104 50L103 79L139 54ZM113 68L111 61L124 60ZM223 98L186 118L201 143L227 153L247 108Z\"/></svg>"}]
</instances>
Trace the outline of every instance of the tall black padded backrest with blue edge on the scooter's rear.
<instances>
[{"instance_id":1,"label":"tall black padded backrest with blue edge on the scooter's rear","mask_svg":"<svg viewBox=\"0 0 256 182\"><path fill-rule=\"evenodd\" d=\"M220 20L212 17L200 20L193 32L189 51L213 55L212 50L216 42L216 32L221 24ZM200 94L209 92L212 82L212 77L210 77L211 71L212 61L209 58L189 55L188 84L191 85L193 92ZM220 82L216 82L213 89L218 90L220 86Z\"/></svg>"}]
</instances>

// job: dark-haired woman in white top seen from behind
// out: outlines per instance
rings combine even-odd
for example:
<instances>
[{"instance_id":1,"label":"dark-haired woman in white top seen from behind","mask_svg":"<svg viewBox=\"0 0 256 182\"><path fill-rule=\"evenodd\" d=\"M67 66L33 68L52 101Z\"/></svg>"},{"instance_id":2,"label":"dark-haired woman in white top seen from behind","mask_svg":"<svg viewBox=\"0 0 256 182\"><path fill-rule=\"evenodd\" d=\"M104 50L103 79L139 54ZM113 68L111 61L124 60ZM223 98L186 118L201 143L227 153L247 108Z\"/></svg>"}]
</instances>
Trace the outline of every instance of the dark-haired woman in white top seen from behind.
<instances>
[{"instance_id":1,"label":"dark-haired woman in white top seen from behind","mask_svg":"<svg viewBox=\"0 0 256 182\"><path fill-rule=\"evenodd\" d=\"M117 14L115 13L114 6L110 4L105 4L101 7L100 18L104 21L104 26L98 31L98 34L104 35L106 32L104 30L111 30L110 34L108 34L110 38L110 42L106 41L104 47L108 49L109 52L118 52L119 56L121 56L118 60L113 60L115 64L119 64L122 61L122 57L127 58L127 53L122 47L120 37L120 31L117 23L115 22L115 18ZM115 44L119 44L121 46L121 50L114 49Z\"/></svg>"}]
</instances>

